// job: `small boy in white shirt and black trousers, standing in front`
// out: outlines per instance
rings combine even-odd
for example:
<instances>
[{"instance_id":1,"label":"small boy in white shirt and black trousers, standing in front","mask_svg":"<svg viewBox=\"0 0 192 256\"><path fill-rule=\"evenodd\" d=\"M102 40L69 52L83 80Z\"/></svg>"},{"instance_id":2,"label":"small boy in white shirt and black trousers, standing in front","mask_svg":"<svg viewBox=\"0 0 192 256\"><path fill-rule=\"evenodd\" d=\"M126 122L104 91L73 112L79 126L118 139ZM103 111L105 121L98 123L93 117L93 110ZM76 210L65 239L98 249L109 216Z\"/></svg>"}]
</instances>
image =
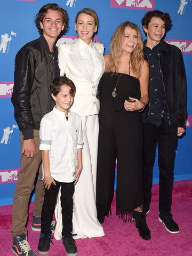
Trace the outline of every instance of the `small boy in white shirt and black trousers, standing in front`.
<instances>
[{"instance_id":1,"label":"small boy in white shirt and black trousers, standing in front","mask_svg":"<svg viewBox=\"0 0 192 256\"><path fill-rule=\"evenodd\" d=\"M52 213L61 187L62 242L67 255L77 255L71 231L74 185L82 171L83 139L81 117L69 110L75 92L75 84L69 78L55 78L51 95L56 106L41 121L39 148L42 150L45 196L38 244L40 254L49 252Z\"/></svg>"}]
</instances>

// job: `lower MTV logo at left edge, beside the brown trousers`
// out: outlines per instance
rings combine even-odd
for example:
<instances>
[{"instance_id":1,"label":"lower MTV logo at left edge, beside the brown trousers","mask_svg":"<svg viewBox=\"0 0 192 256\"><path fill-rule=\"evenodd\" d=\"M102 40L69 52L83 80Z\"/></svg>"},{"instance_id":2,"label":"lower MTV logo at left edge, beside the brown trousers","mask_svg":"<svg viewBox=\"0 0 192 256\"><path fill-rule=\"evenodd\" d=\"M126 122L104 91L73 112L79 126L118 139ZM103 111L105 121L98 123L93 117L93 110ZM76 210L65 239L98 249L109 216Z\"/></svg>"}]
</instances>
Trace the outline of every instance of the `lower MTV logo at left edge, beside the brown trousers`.
<instances>
[{"instance_id":1,"label":"lower MTV logo at left edge, beside the brown trousers","mask_svg":"<svg viewBox=\"0 0 192 256\"><path fill-rule=\"evenodd\" d=\"M17 182L19 170L20 169L0 170L0 185Z\"/></svg>"}]
</instances>

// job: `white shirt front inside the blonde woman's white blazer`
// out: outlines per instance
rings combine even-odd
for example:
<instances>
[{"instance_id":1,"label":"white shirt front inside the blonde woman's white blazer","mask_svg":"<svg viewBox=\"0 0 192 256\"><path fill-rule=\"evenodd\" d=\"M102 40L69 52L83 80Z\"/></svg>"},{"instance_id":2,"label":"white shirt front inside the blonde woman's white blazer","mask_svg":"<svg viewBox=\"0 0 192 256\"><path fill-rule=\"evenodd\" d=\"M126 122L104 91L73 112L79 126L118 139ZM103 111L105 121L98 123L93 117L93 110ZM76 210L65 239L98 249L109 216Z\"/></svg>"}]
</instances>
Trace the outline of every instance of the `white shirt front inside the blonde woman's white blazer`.
<instances>
[{"instance_id":1,"label":"white shirt front inside the blonde woman's white blazer","mask_svg":"<svg viewBox=\"0 0 192 256\"><path fill-rule=\"evenodd\" d=\"M98 59L93 43L87 45L81 38L79 38L79 51L82 61L86 67L88 74L92 81L95 83L100 76L100 70L102 69L101 61Z\"/></svg>"}]
</instances>

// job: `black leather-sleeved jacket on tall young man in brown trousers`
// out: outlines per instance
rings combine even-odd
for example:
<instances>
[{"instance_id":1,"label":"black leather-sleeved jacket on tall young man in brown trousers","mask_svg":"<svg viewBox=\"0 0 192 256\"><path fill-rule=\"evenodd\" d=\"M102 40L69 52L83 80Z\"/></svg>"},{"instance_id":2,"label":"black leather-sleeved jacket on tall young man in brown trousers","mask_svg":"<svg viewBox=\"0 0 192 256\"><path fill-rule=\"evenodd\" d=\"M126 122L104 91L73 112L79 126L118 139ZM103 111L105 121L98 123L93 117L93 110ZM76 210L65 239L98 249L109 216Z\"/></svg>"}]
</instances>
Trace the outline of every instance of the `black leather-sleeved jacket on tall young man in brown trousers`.
<instances>
[{"instance_id":1,"label":"black leather-sleeved jacket on tall young man in brown trousers","mask_svg":"<svg viewBox=\"0 0 192 256\"><path fill-rule=\"evenodd\" d=\"M54 46L51 54L44 36L24 45L15 57L14 87L11 101L14 118L24 139L33 138L42 117L54 106L50 86L54 79Z\"/></svg>"}]
</instances>

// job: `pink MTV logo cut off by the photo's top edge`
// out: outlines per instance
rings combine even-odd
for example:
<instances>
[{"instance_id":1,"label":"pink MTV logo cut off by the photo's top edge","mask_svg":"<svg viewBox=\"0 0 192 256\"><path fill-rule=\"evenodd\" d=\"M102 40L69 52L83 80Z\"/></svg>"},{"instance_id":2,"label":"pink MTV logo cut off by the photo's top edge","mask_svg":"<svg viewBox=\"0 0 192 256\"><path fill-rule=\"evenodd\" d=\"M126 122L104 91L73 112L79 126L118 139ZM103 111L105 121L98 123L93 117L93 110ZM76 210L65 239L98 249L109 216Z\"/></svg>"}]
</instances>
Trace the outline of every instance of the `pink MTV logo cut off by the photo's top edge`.
<instances>
[{"instance_id":1,"label":"pink MTV logo cut off by the photo's top edge","mask_svg":"<svg viewBox=\"0 0 192 256\"><path fill-rule=\"evenodd\" d=\"M140 10L154 10L155 0L110 0L110 7Z\"/></svg>"}]
</instances>

